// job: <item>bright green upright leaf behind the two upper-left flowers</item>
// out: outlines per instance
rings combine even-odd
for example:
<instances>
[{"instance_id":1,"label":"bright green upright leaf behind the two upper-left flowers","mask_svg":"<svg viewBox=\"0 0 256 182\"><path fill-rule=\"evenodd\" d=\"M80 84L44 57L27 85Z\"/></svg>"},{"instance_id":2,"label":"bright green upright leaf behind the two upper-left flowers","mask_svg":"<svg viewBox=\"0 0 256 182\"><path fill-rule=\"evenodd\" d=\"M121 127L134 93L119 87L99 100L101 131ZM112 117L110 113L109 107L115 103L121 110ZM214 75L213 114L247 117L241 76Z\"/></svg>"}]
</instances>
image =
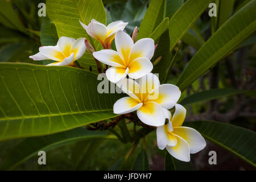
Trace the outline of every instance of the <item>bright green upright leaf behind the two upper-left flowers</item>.
<instances>
[{"instance_id":1,"label":"bright green upright leaf behind the two upper-left flowers","mask_svg":"<svg viewBox=\"0 0 256 182\"><path fill-rule=\"evenodd\" d=\"M92 40L91 43L96 50L102 48L100 43L88 36L79 23L81 20L87 25L93 18L103 24L106 23L106 13L101 0L47 0L46 7L59 37L86 38L89 41ZM88 51L79 59L79 63L85 69L89 70L91 67L93 72L97 72L96 63Z\"/></svg>"}]
</instances>

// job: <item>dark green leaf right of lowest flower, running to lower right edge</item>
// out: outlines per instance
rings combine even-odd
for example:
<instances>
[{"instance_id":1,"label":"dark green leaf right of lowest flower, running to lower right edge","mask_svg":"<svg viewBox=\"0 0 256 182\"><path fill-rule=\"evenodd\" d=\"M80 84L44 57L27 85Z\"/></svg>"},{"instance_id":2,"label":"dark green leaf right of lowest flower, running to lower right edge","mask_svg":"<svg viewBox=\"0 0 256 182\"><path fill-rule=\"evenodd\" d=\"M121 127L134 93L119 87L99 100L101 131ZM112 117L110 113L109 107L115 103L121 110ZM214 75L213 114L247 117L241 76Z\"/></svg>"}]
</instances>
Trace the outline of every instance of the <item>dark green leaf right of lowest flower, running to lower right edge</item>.
<instances>
[{"instance_id":1,"label":"dark green leaf right of lowest flower, running to lower right edge","mask_svg":"<svg viewBox=\"0 0 256 182\"><path fill-rule=\"evenodd\" d=\"M205 139L216 143L256 167L256 133L242 127L213 121L185 122Z\"/></svg>"}]
</instances>

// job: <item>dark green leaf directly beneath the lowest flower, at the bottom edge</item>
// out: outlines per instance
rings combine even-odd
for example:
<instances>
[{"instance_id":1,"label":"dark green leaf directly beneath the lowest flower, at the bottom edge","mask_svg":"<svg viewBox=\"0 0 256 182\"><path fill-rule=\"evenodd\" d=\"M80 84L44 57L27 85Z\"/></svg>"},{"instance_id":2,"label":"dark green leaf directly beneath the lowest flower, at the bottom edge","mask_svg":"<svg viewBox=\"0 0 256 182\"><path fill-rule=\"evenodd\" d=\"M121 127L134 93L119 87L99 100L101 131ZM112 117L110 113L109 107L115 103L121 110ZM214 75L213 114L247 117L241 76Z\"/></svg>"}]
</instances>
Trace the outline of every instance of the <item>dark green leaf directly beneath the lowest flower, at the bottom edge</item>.
<instances>
[{"instance_id":1,"label":"dark green leaf directly beneath the lowest flower, at the bottom edge","mask_svg":"<svg viewBox=\"0 0 256 182\"><path fill-rule=\"evenodd\" d=\"M167 151L164 155L164 170L166 171L193 171L191 162L183 162L172 157Z\"/></svg>"}]
</instances>

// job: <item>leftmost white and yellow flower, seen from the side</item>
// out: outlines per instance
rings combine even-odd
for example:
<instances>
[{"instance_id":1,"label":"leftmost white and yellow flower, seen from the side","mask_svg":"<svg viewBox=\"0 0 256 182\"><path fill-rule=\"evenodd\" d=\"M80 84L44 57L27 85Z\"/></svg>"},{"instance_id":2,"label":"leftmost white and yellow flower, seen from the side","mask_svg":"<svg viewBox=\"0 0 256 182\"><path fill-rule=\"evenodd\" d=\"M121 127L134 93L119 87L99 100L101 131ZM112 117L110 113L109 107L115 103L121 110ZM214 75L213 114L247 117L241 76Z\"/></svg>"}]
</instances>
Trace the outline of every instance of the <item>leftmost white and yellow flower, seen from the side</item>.
<instances>
[{"instance_id":1,"label":"leftmost white and yellow flower, seen from the side","mask_svg":"<svg viewBox=\"0 0 256 182\"><path fill-rule=\"evenodd\" d=\"M73 61L80 59L85 50L85 38L76 40L61 36L57 46L39 47L39 52L30 56L30 58L33 60L57 61L48 65L73 65Z\"/></svg>"}]
</instances>

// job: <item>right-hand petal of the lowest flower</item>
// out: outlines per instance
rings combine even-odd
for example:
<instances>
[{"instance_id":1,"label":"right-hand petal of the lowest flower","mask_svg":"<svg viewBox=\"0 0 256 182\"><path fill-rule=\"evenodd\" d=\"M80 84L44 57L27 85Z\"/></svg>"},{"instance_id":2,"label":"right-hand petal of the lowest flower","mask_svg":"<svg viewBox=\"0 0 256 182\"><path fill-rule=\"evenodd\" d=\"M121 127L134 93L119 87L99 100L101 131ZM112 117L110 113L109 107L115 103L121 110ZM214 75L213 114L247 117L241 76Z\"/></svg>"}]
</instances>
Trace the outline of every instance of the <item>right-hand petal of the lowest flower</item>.
<instances>
[{"instance_id":1,"label":"right-hand petal of the lowest flower","mask_svg":"<svg viewBox=\"0 0 256 182\"><path fill-rule=\"evenodd\" d=\"M195 154L206 146L202 135L191 127L175 127L173 133L186 140L191 154Z\"/></svg>"}]
</instances>

